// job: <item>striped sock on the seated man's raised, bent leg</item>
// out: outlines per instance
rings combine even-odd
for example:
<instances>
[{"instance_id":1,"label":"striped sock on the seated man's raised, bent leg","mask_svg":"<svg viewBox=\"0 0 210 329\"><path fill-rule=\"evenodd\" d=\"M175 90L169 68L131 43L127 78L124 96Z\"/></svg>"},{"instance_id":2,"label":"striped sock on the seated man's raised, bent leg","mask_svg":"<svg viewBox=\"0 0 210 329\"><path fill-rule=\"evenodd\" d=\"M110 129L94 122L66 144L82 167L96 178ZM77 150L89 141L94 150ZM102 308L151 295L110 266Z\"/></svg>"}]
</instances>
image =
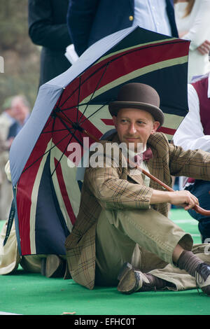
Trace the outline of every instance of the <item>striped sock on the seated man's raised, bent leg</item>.
<instances>
[{"instance_id":1,"label":"striped sock on the seated man's raised, bent leg","mask_svg":"<svg viewBox=\"0 0 210 329\"><path fill-rule=\"evenodd\" d=\"M179 269L185 269L186 272L195 277L195 269L202 262L204 261L194 255L192 251L183 251L179 257L177 265Z\"/></svg>"}]
</instances>

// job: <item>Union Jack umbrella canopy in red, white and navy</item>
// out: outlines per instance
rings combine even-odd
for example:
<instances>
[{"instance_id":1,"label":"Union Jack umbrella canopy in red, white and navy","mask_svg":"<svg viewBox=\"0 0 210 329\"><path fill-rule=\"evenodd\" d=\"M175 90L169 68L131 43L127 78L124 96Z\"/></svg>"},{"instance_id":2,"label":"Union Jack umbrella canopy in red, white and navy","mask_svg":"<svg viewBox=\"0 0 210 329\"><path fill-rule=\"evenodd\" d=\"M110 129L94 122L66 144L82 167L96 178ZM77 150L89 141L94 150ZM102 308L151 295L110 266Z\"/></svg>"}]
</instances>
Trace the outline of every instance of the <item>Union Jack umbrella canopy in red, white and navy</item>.
<instances>
[{"instance_id":1,"label":"Union Jack umbrella canopy in red, white and navy","mask_svg":"<svg viewBox=\"0 0 210 329\"><path fill-rule=\"evenodd\" d=\"M82 186L77 167L69 166L69 144L83 146L84 130L100 139L113 128L108 104L123 84L146 83L158 91L165 113L160 130L172 139L188 113L189 45L131 27L98 41L70 69L40 87L31 116L10 149L21 255L65 254Z\"/></svg>"}]
</instances>

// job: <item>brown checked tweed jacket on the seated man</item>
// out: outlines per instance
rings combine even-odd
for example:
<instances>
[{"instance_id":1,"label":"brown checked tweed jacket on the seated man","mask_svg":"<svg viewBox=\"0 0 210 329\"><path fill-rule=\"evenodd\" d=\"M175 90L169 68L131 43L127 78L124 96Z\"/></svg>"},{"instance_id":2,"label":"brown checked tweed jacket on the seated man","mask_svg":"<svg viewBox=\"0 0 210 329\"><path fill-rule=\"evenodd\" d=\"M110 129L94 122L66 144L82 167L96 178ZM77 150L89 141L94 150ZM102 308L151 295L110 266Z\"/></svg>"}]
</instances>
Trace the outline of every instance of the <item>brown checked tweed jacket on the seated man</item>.
<instances>
[{"instance_id":1,"label":"brown checked tweed jacket on the seated man","mask_svg":"<svg viewBox=\"0 0 210 329\"><path fill-rule=\"evenodd\" d=\"M111 141L104 141L104 144L107 142L119 144L118 135L113 135ZM183 151L180 146L169 144L165 134L160 132L149 137L147 147L153 151L153 158L147 164L149 172L168 186L172 186L171 176L210 180L209 153ZM121 161L118 167L85 169L78 217L65 243L66 259L74 281L94 288L95 235L102 209L149 209L153 189L162 190L162 186L152 180L150 186L144 185L142 174L131 175L130 169L123 167ZM167 216L166 203L152 207Z\"/></svg>"}]
</instances>

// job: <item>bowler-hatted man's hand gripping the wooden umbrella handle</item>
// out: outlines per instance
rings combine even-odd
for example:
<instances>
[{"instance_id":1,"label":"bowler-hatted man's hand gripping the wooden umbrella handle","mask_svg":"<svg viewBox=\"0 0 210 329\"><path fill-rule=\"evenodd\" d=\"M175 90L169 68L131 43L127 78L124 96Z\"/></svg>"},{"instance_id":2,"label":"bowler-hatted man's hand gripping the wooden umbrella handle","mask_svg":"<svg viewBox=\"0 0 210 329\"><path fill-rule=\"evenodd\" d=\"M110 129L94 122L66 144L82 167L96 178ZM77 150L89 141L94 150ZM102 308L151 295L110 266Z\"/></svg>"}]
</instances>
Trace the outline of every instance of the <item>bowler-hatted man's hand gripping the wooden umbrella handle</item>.
<instances>
[{"instance_id":1,"label":"bowler-hatted man's hand gripping the wooden umbrella handle","mask_svg":"<svg viewBox=\"0 0 210 329\"><path fill-rule=\"evenodd\" d=\"M175 206L181 206L185 210L192 209L195 205L199 206L197 197L188 190L169 192L169 198L169 203Z\"/></svg>"}]
</instances>

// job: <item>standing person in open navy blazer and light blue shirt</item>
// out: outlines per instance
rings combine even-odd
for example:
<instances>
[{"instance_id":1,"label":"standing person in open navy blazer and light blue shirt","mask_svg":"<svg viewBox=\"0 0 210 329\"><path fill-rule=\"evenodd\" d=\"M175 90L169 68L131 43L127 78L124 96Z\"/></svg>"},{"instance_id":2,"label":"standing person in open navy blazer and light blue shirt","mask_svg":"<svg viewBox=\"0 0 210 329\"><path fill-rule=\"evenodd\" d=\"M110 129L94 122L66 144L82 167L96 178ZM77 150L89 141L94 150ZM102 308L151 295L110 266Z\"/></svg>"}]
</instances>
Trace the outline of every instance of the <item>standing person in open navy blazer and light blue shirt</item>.
<instances>
[{"instance_id":1,"label":"standing person in open navy blazer and light blue shirt","mask_svg":"<svg viewBox=\"0 0 210 329\"><path fill-rule=\"evenodd\" d=\"M78 56L104 36L133 25L178 37L173 0L70 0L67 25Z\"/></svg>"}]
</instances>

